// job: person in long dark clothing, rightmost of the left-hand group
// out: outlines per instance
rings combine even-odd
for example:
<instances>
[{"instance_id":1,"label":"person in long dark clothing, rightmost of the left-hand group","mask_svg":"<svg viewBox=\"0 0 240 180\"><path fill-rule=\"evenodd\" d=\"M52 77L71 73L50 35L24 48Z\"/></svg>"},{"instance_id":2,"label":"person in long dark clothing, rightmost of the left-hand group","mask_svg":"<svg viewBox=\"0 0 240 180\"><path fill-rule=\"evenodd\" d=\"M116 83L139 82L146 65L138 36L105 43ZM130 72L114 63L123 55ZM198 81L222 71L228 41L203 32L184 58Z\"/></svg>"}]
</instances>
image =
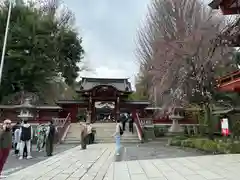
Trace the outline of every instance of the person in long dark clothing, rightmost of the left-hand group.
<instances>
[{"instance_id":1,"label":"person in long dark clothing, rightmost of the left-hand group","mask_svg":"<svg viewBox=\"0 0 240 180\"><path fill-rule=\"evenodd\" d=\"M56 135L56 127L53 124L53 121L50 121L46 129L46 153L47 156L52 156L53 153L53 144L54 138Z\"/></svg>"}]
</instances>

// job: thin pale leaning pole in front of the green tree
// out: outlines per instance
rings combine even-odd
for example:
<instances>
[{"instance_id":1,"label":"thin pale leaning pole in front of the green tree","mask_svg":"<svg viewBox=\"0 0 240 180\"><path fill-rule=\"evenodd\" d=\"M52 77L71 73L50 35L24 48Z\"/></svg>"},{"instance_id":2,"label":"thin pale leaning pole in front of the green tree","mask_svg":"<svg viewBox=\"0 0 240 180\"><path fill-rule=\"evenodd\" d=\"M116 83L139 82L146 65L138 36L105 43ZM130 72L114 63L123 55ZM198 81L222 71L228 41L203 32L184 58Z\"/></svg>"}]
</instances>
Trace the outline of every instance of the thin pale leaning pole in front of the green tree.
<instances>
[{"instance_id":1,"label":"thin pale leaning pole in front of the green tree","mask_svg":"<svg viewBox=\"0 0 240 180\"><path fill-rule=\"evenodd\" d=\"M3 73L6 45L7 45L8 29L9 29L9 23L11 18L11 11L12 11L12 0L9 1L7 24L6 24L5 36L4 36L3 48L2 48L1 65L0 65L0 85L2 83L2 73Z\"/></svg>"}]
</instances>

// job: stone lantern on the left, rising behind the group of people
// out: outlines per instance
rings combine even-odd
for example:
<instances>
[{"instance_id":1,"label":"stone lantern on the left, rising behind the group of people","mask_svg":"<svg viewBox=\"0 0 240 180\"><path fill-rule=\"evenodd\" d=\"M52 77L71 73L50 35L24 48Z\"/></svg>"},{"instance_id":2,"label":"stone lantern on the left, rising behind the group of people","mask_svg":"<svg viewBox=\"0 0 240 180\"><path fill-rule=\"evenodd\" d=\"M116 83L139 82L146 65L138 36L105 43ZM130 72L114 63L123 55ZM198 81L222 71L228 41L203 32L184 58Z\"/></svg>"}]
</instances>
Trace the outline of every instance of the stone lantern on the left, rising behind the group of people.
<instances>
[{"instance_id":1,"label":"stone lantern on the left, rising behind the group of people","mask_svg":"<svg viewBox=\"0 0 240 180\"><path fill-rule=\"evenodd\" d=\"M30 99L25 99L22 104L15 106L15 108L20 110L18 118L20 118L22 121L33 119L34 116L32 114L32 109L34 109L35 106L31 104Z\"/></svg>"}]
</instances>

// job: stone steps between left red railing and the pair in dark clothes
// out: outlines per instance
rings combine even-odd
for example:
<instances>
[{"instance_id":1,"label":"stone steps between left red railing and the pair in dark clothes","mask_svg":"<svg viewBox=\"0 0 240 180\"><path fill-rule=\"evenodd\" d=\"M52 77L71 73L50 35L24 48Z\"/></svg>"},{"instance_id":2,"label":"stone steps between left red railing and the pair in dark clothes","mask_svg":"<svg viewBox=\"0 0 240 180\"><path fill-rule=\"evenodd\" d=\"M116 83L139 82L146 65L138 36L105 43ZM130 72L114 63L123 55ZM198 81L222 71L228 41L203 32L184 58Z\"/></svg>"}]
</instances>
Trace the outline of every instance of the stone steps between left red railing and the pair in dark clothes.
<instances>
[{"instance_id":1,"label":"stone steps between left red railing and the pair in dark clothes","mask_svg":"<svg viewBox=\"0 0 240 180\"><path fill-rule=\"evenodd\" d=\"M64 139L65 144L80 144L80 124L71 123L70 128L68 129L67 135Z\"/></svg>"}]
</instances>

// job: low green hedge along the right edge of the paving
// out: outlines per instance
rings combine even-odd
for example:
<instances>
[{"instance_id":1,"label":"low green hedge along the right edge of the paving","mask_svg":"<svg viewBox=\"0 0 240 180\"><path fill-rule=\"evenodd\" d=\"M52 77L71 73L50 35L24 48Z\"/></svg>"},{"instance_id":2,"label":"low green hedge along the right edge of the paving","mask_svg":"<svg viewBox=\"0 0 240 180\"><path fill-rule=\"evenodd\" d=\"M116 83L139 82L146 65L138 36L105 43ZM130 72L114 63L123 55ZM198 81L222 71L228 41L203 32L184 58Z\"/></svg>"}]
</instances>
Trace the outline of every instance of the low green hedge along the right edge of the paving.
<instances>
[{"instance_id":1,"label":"low green hedge along the right edge of the paving","mask_svg":"<svg viewBox=\"0 0 240 180\"><path fill-rule=\"evenodd\" d=\"M240 153L239 142L221 142L205 138L174 137L170 140L169 145L195 148L201 151L217 154Z\"/></svg>"}]
</instances>

